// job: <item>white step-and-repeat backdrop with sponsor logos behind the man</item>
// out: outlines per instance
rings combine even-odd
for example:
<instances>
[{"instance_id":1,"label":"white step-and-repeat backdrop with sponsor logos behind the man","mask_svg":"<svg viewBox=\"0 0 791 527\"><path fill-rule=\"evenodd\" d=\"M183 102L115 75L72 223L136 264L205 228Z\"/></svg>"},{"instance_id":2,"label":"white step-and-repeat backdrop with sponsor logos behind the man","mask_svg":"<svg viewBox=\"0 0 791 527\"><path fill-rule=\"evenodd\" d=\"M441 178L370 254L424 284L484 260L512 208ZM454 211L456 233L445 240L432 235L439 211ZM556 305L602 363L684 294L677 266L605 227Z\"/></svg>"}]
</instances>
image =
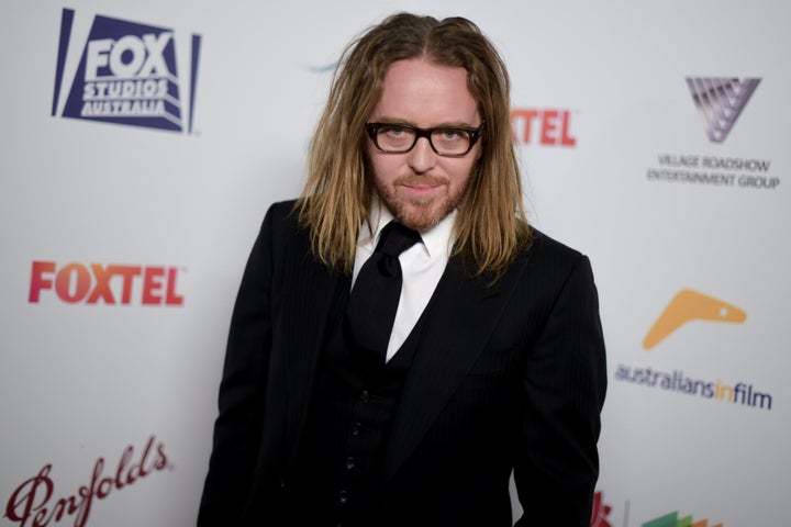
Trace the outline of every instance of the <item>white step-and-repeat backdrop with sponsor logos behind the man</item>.
<instances>
[{"instance_id":1,"label":"white step-and-repeat backdrop with sponsor logos behind the man","mask_svg":"<svg viewBox=\"0 0 791 527\"><path fill-rule=\"evenodd\" d=\"M791 525L790 5L7 0L0 526L194 523L259 222L394 10L492 37L531 218L592 259L591 524Z\"/></svg>"}]
</instances>

